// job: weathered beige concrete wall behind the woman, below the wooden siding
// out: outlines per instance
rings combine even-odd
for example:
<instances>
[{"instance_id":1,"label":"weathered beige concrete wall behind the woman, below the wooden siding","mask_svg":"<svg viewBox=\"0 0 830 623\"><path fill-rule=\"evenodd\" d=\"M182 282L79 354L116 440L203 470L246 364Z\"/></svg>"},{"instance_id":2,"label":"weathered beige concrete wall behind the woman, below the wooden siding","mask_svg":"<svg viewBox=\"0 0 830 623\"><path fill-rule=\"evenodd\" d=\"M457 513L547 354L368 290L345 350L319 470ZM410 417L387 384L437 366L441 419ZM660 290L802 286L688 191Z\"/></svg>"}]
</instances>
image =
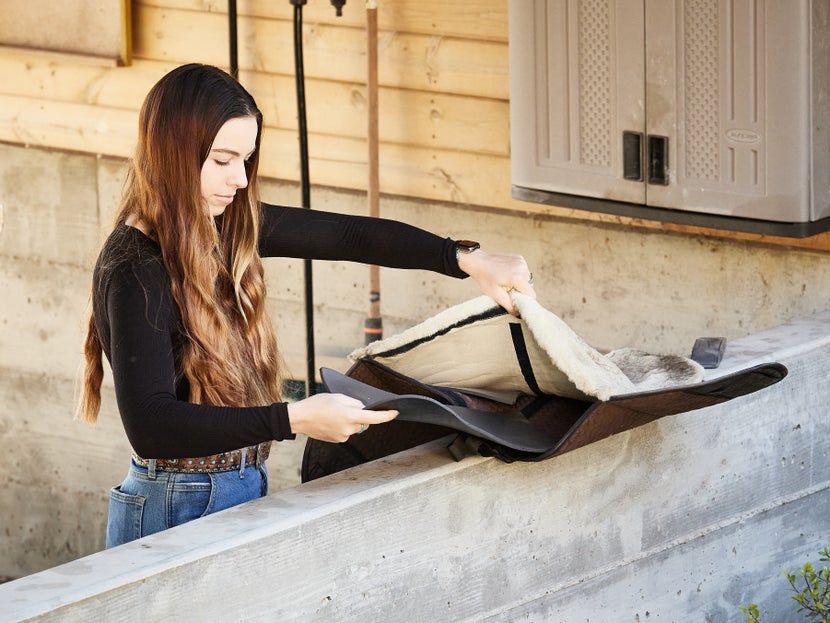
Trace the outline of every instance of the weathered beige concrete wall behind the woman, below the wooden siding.
<instances>
[{"instance_id":1,"label":"weathered beige concrete wall behind the woman, below the wooden siding","mask_svg":"<svg viewBox=\"0 0 830 623\"><path fill-rule=\"evenodd\" d=\"M0 576L20 577L103 547L107 491L127 469L109 386L97 427L72 421L91 266L124 162L2 143L0 162ZM293 185L264 186L267 200L299 202ZM312 202L366 209L363 195L324 188ZM381 212L523 253L542 302L601 349L687 353L700 335L737 338L825 309L830 292L820 252L393 197ZM301 359L302 263L267 260L267 272L283 350ZM315 263L318 357L362 344L367 281L363 266ZM381 286L387 335L477 295L421 271L383 270ZM299 481L301 452L279 444L274 490Z\"/></svg>"}]
</instances>

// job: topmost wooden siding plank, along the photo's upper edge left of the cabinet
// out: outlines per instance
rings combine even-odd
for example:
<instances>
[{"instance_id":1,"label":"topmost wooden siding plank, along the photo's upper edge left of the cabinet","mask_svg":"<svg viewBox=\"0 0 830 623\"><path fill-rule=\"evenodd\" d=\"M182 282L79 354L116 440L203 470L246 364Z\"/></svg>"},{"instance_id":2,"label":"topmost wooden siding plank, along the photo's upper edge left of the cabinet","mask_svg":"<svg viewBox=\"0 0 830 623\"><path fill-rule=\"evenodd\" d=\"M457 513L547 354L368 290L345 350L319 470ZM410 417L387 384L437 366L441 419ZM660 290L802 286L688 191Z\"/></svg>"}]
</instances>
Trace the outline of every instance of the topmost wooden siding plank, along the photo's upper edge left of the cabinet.
<instances>
[{"instance_id":1,"label":"topmost wooden siding plank, along the photo's upper edge left of the cabinet","mask_svg":"<svg viewBox=\"0 0 830 623\"><path fill-rule=\"evenodd\" d=\"M225 0L142 0L142 6L207 11L227 15ZM507 42L507 0L392 0L378 2L378 28L414 34ZM249 0L237 7L239 16L291 20L294 7L287 0ZM318 0L303 7L303 22L362 28L366 24L363 2L348 2L337 17L329 2Z\"/></svg>"}]
</instances>

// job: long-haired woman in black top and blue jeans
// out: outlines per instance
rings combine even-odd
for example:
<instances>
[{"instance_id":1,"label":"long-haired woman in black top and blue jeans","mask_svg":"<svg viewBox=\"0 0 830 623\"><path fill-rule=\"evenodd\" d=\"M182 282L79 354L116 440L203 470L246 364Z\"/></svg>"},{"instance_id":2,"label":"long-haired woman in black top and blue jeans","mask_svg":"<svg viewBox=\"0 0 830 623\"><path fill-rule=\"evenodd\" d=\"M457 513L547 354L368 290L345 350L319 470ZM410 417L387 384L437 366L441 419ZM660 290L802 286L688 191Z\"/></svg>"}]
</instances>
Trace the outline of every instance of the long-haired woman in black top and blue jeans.
<instances>
[{"instance_id":1,"label":"long-haired woman in black top and blue jeans","mask_svg":"<svg viewBox=\"0 0 830 623\"><path fill-rule=\"evenodd\" d=\"M341 442L395 411L318 394L287 404L261 257L350 260L472 276L512 311L533 295L517 255L384 219L262 205L262 114L225 72L185 65L150 91L113 232L95 266L80 419L106 355L133 448L107 547L265 495L270 443Z\"/></svg>"}]
</instances>

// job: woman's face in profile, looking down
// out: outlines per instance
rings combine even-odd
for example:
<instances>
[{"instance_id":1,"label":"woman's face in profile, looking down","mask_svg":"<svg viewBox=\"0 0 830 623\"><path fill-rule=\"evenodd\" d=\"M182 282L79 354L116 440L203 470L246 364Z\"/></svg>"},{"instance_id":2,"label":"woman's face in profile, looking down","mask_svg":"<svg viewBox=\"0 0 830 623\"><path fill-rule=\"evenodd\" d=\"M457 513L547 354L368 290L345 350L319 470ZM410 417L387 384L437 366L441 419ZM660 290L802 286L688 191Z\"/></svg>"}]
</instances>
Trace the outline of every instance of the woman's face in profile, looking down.
<instances>
[{"instance_id":1,"label":"woman's face in profile, looking down","mask_svg":"<svg viewBox=\"0 0 830 623\"><path fill-rule=\"evenodd\" d=\"M202 165L202 197L211 216L219 216L236 191L248 185L245 161L256 149L257 121L254 117L229 119L219 128Z\"/></svg>"}]
</instances>

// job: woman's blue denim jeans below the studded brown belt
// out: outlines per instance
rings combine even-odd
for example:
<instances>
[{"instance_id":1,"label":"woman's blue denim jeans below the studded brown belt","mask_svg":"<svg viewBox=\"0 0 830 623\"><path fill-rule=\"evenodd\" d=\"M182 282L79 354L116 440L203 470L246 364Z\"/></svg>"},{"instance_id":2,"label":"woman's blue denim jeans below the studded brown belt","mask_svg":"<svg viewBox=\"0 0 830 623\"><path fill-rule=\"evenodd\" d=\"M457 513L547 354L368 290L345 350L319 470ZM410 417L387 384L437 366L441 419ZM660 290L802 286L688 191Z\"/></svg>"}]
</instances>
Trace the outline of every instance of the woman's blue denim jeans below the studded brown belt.
<instances>
[{"instance_id":1,"label":"woman's blue denim jeans below the studded brown belt","mask_svg":"<svg viewBox=\"0 0 830 623\"><path fill-rule=\"evenodd\" d=\"M210 474L154 471L130 460L110 491L107 548L255 500L268 493L265 465Z\"/></svg>"}]
</instances>

